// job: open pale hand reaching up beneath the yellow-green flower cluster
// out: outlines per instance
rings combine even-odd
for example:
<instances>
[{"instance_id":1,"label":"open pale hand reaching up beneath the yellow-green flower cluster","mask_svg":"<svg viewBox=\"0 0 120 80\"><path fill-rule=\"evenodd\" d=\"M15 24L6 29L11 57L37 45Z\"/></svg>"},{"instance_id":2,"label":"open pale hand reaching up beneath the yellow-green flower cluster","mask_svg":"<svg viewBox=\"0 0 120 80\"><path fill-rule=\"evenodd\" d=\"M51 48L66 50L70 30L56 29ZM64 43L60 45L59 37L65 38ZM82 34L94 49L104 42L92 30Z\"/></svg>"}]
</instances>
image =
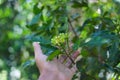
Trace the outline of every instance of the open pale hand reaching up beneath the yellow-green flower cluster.
<instances>
[{"instance_id":1,"label":"open pale hand reaching up beneath the yellow-green flower cluster","mask_svg":"<svg viewBox=\"0 0 120 80\"><path fill-rule=\"evenodd\" d=\"M66 64L62 64L65 56L61 56L59 59L53 61L46 61L47 56L42 53L41 47L38 42L33 43L35 61L40 72L38 80L71 80L76 67L68 68L71 65L69 59L66 60ZM72 58L78 56L78 53L72 55Z\"/></svg>"}]
</instances>

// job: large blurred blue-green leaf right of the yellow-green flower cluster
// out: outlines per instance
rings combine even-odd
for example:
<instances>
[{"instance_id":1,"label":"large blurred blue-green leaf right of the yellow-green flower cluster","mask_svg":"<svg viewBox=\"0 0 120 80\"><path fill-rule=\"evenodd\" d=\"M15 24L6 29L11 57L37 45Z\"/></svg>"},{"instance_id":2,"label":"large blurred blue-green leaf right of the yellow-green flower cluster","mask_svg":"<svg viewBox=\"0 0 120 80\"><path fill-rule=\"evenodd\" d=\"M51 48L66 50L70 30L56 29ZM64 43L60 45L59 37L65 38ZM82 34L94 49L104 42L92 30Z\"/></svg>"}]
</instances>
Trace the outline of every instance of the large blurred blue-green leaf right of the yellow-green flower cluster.
<instances>
[{"instance_id":1,"label":"large blurred blue-green leaf right of the yellow-green flower cluster","mask_svg":"<svg viewBox=\"0 0 120 80\"><path fill-rule=\"evenodd\" d=\"M111 45L111 42L115 38L114 35L110 34L108 31L99 31L91 35L91 37L85 40L85 45L89 47L97 47L106 45L106 47Z\"/></svg>"}]
</instances>

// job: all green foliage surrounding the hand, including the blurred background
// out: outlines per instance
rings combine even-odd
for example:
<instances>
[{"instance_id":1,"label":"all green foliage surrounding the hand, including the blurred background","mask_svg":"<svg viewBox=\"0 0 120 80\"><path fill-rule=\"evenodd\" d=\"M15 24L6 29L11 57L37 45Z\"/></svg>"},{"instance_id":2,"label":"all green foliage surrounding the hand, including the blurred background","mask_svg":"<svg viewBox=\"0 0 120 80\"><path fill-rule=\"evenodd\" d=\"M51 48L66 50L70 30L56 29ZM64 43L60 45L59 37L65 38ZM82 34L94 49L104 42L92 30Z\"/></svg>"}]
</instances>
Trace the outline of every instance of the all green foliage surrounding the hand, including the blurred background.
<instances>
[{"instance_id":1,"label":"all green foliage surrounding the hand, including the blurred background","mask_svg":"<svg viewBox=\"0 0 120 80\"><path fill-rule=\"evenodd\" d=\"M33 41L48 60L80 50L74 78L120 79L119 15L119 0L0 0L0 80L38 78Z\"/></svg>"}]
</instances>

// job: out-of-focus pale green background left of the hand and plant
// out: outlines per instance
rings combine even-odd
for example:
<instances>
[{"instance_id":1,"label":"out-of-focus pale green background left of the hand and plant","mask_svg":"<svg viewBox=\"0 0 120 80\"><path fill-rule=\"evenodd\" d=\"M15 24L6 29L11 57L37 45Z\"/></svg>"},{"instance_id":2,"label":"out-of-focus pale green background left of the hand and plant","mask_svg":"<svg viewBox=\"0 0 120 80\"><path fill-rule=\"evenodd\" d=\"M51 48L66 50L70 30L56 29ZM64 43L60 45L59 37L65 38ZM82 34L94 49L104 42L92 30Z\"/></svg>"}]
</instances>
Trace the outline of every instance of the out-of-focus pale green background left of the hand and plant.
<instances>
[{"instance_id":1,"label":"out-of-focus pale green background left of the hand and plant","mask_svg":"<svg viewBox=\"0 0 120 80\"><path fill-rule=\"evenodd\" d=\"M36 66L24 69L26 61L33 61L31 20L35 0L0 0L0 80L37 80ZM26 63L27 65L27 63Z\"/></svg>"}]
</instances>

